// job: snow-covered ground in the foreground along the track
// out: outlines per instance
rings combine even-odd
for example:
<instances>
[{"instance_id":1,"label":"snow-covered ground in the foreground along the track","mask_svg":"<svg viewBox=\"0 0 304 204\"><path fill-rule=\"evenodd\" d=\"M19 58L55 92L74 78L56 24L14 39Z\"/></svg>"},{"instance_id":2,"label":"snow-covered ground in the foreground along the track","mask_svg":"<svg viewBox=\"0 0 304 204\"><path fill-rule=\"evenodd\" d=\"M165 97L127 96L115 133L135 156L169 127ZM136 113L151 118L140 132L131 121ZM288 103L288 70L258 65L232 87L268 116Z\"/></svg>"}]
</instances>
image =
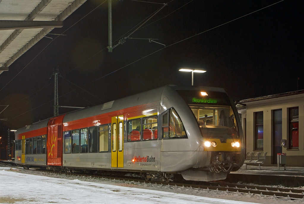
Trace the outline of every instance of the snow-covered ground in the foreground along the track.
<instances>
[{"instance_id":1,"label":"snow-covered ground in the foreground along the track","mask_svg":"<svg viewBox=\"0 0 304 204\"><path fill-rule=\"evenodd\" d=\"M287 200L39 171L12 171L7 167L0 167L0 203L278 204ZM302 203L301 200L289 202Z\"/></svg>"}]
</instances>

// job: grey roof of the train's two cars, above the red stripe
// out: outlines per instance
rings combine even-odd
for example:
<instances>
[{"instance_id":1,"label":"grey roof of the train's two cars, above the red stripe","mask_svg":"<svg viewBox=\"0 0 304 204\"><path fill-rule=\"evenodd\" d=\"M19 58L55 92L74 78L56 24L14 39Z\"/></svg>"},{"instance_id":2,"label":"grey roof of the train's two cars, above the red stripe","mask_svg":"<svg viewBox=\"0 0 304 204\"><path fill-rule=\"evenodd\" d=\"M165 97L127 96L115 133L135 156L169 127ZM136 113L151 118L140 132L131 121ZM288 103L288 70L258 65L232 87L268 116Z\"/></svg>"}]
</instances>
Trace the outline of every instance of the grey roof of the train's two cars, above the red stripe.
<instances>
[{"instance_id":1,"label":"grey roof of the train's two cars, above the red stripe","mask_svg":"<svg viewBox=\"0 0 304 204\"><path fill-rule=\"evenodd\" d=\"M159 88L154 88L152 90L141 92L138 94L134 94L131 96L127 96L122 99L116 99L114 101L106 102L100 105L96 105L93 107L88 107L72 112L65 113L63 123L70 122L73 120L78 120L82 118L87 118L91 116L100 115L107 112L116 111L119 109L129 108L136 105L142 105L145 103L155 102L161 100L161 94L164 89L171 90L206 90L213 92L225 92L224 88L216 88L216 87L207 87L207 86L181 86L181 85L165 85ZM63 114L62 114L63 115ZM50 117L48 119L33 123L32 125L28 125L22 128L19 128L16 134L25 133L32 130L37 130L43 127L47 127L47 123L49 120L53 118Z\"/></svg>"}]
</instances>

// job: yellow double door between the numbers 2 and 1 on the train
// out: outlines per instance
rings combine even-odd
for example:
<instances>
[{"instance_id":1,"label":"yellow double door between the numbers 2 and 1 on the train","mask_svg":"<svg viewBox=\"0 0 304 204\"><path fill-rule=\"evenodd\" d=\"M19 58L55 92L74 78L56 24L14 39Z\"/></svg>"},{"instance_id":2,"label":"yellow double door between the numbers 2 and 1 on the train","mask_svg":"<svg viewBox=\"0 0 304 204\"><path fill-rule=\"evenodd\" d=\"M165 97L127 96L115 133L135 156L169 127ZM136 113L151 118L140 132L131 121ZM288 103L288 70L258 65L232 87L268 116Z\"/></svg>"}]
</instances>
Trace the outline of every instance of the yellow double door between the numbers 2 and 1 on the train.
<instances>
[{"instance_id":1,"label":"yellow double door between the numbers 2 and 1 on the train","mask_svg":"<svg viewBox=\"0 0 304 204\"><path fill-rule=\"evenodd\" d=\"M123 168L123 115L112 117L112 167Z\"/></svg>"}]
</instances>

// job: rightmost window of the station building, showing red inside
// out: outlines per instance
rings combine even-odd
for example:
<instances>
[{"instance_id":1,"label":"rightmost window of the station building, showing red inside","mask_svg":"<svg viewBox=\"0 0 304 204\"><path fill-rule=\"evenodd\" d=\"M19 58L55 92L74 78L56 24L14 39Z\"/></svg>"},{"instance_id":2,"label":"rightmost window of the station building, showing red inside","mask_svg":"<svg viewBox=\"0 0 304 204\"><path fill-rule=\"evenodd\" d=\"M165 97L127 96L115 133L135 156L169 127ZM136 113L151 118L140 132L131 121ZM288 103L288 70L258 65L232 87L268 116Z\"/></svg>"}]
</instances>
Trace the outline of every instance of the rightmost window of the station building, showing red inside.
<instances>
[{"instance_id":1,"label":"rightmost window of the station building, showing red inside","mask_svg":"<svg viewBox=\"0 0 304 204\"><path fill-rule=\"evenodd\" d=\"M299 107L289 108L289 148L299 148Z\"/></svg>"}]
</instances>

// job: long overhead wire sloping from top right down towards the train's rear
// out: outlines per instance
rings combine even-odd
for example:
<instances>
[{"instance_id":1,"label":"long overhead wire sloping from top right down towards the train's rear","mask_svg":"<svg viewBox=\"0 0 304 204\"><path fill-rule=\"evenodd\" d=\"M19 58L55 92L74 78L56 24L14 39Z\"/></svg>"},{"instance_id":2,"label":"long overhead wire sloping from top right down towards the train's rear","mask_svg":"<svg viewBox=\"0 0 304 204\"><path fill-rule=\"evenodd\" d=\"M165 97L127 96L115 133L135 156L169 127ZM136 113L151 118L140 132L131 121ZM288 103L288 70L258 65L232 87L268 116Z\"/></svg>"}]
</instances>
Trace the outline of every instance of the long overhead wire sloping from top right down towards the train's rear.
<instances>
[{"instance_id":1,"label":"long overhead wire sloping from top right down towards the train's rear","mask_svg":"<svg viewBox=\"0 0 304 204\"><path fill-rule=\"evenodd\" d=\"M82 85L81 87L86 86L86 85L88 85L88 84L90 84L90 83L92 83L92 82L94 82L94 81L97 81L97 80L99 80L99 79L101 79L101 78L104 78L104 77L106 77L106 76L108 76L108 75L110 75L110 74L113 74L113 73L115 73L116 71L119 71L119 70L121 70L121 69L123 69L123 68L125 68L125 67L127 67L127 66L130 66L131 64L134 64L134 63L136 63L137 61L140 61L140 60L142 60L142 59L144 59L144 58L146 58L146 57L148 57L148 56L150 56L150 55L152 55L152 54L154 54L154 53L157 53L157 52L159 52L159 51L161 51L161 50L163 50L163 49L165 49L165 48L167 48L167 47L170 47L170 46L175 45L175 44L177 44L177 43L183 42L183 41L188 40L188 39L190 39L190 38L192 38L192 37L198 36L198 35L200 35L200 34L202 34L202 33L206 33L206 32L208 32L208 31L210 31L210 30L212 30L212 29L218 28L218 27L223 26L223 25L225 25L225 24L227 24L227 23L233 22L233 21L235 21L235 20L237 20L237 19L243 18L243 17L248 16L248 15L250 15L250 14L253 14L253 13L255 13L255 12L261 11L261 10L263 10L263 9L266 9L266 8L272 6L272 5L278 4L278 3L283 2L283 1L284 1L284 0L278 1L278 2L276 2L276 3L273 3L273 4L271 4L271 5L265 6L265 7L261 8L261 9L258 9L258 10L254 11L254 12L250 12L250 13L244 15L244 16L240 16L240 17L238 17L238 18L236 18L236 19L233 19L233 20L231 20L231 21L228 21L228 22L225 22L225 23L223 23L223 24L220 24L219 26L215 26L215 27L213 27L213 28L211 28L211 29L207 29L207 30L205 30L205 31L203 31L203 32L201 32L201 33L195 34L195 35L190 36L190 37L188 37L188 38L185 38L185 39L183 39L183 40L179 40L179 41L177 41L177 42L175 42L175 43L172 43L172 44L170 44L170 45L168 45L168 46L166 46L166 47L163 47L163 48L161 48L161 49L159 49L159 50L156 50L156 51L154 51L154 52L152 52L152 53L150 53L150 54L148 54L148 55L146 55L146 56L144 56L144 57L142 57L142 58L140 58L140 59L138 59L138 60L136 60L136 61L133 61L133 62L131 62L131 63L129 63L129 64L127 64L127 65L125 65L125 66L123 66L123 67L117 69L117 70L115 70L115 71L112 71L112 72L110 72L109 74L106 74L106 75L104 75L104 76L102 76L102 77L100 77L100 78L98 78L98 79L95 79L95 80L93 80L93 81L90 81L89 83L87 83L87 84L85 84L85 85ZM70 93L70 92L68 92L68 93ZM66 94L68 94L68 93L66 93ZM66 94L64 94L64 95L66 95ZM64 95L62 95L62 96L64 96ZM60 97L62 97L62 96L60 96ZM60 98L60 97L59 97L59 98ZM51 101L52 101L52 100L51 100ZM49 102L51 102L51 101L49 101ZM47 103L49 103L49 102L46 102L46 103L44 103L44 104L42 104L42 105L45 105L45 104L47 104ZM40 105L40 106L42 106L42 105ZM38 107L36 107L36 108L39 108L40 106L38 106ZM36 108L33 108L33 109L36 109ZM33 109L32 109L32 110L33 110ZM29 110L29 111L31 111L31 110ZM29 112L29 111L27 111L27 112ZM25 113L26 113L26 112L24 112L24 113L22 113L22 114L20 114L20 115L18 115L18 116L21 116L21 115L23 115L23 114L25 114ZM18 116L16 116L16 117L18 117ZM16 117L14 117L14 118L16 118ZM12 119L14 119L14 118L12 118Z\"/></svg>"}]
</instances>

